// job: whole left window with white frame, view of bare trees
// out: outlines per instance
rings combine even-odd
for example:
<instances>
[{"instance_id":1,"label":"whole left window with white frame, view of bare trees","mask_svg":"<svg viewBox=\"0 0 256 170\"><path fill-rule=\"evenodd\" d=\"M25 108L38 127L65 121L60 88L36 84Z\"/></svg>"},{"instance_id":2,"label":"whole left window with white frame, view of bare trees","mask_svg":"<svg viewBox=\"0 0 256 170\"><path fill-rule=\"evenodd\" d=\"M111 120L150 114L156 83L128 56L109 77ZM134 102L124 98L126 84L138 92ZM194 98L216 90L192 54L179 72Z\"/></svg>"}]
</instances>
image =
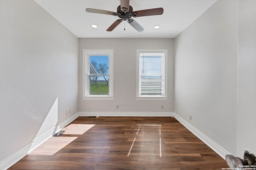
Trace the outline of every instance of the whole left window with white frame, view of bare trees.
<instances>
[{"instance_id":1,"label":"whole left window with white frame, view of bare trees","mask_svg":"<svg viewBox=\"0 0 256 170\"><path fill-rule=\"evenodd\" d=\"M83 99L114 99L113 49L83 50Z\"/></svg>"}]
</instances>

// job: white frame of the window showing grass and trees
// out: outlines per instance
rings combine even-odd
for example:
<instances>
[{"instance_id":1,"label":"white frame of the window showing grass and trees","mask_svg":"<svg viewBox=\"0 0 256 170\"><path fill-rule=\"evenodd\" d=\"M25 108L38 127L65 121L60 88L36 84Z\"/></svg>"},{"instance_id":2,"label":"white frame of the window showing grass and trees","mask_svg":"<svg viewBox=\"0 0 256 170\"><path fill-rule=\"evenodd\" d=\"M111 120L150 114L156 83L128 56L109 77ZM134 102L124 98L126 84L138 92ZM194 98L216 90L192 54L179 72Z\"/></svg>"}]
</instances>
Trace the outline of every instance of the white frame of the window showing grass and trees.
<instances>
[{"instance_id":1,"label":"white frame of the window showing grass and trees","mask_svg":"<svg viewBox=\"0 0 256 170\"><path fill-rule=\"evenodd\" d=\"M108 55L108 95L90 95L90 55ZM83 49L83 100L114 100L114 49Z\"/></svg>"}]
</instances>

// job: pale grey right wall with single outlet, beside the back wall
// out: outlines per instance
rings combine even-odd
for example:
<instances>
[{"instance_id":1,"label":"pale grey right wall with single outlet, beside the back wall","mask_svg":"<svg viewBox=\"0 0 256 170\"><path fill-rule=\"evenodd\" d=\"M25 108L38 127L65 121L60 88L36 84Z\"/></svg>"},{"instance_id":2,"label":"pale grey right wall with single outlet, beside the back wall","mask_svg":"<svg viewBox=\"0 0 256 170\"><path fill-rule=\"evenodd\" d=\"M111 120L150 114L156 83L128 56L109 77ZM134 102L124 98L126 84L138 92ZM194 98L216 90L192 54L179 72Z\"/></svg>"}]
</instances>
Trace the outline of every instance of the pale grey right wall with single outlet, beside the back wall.
<instances>
[{"instance_id":1,"label":"pale grey right wall with single outlet, beside the back wall","mask_svg":"<svg viewBox=\"0 0 256 170\"><path fill-rule=\"evenodd\" d=\"M175 38L174 112L235 155L237 51L238 0L218 0Z\"/></svg>"}]
</instances>

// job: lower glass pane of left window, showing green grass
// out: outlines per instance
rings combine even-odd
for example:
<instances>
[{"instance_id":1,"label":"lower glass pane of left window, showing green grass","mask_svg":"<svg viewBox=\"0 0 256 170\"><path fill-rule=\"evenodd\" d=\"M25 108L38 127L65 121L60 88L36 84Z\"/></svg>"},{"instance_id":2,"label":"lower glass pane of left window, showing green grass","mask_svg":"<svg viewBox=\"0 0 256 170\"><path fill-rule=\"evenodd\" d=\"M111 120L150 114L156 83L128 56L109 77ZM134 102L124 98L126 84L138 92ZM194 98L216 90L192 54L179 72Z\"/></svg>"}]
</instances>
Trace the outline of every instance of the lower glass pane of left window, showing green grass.
<instances>
[{"instance_id":1,"label":"lower glass pane of left window, showing green grass","mask_svg":"<svg viewBox=\"0 0 256 170\"><path fill-rule=\"evenodd\" d=\"M109 76L89 76L90 95L109 95Z\"/></svg>"}]
</instances>

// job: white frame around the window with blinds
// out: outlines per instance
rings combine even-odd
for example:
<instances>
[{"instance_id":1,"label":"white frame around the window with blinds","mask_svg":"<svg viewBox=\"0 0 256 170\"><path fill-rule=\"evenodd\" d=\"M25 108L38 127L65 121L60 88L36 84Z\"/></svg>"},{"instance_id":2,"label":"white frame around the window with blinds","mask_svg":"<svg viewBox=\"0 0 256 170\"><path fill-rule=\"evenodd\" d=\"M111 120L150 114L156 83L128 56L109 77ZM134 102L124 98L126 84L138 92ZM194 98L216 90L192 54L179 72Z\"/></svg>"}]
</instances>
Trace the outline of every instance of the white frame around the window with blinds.
<instances>
[{"instance_id":1,"label":"white frame around the window with blinds","mask_svg":"<svg viewBox=\"0 0 256 170\"><path fill-rule=\"evenodd\" d=\"M137 80L136 80L136 99L137 100L167 100L167 58L168 53L167 49L137 49ZM164 72L164 95L140 95L140 76L141 76L141 68L140 68L140 53L164 53L162 56L162 66L161 68Z\"/></svg>"}]
</instances>

